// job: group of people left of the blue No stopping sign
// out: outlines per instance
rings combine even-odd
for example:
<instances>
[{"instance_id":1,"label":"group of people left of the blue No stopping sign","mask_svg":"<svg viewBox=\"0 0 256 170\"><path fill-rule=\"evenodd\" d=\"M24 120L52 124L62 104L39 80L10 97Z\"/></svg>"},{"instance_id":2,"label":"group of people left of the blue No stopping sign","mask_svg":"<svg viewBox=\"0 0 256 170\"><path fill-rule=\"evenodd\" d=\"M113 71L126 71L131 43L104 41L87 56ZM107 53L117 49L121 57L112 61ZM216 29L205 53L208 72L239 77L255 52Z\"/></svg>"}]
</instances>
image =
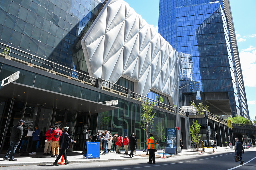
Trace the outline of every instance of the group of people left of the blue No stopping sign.
<instances>
[{"instance_id":1,"label":"group of people left of the blue No stopping sign","mask_svg":"<svg viewBox=\"0 0 256 170\"><path fill-rule=\"evenodd\" d=\"M22 125L25 123L22 119L19 120L17 125L14 125L11 129L11 137L10 137L10 146L4 155L4 160L9 160L9 161L16 161L17 159L14 158L14 153L18 145L21 142L21 147L27 145L28 143L28 130L30 130L30 127L27 128L27 130L24 131L23 133L23 127ZM44 155L50 155L50 151L52 149L52 157L55 157L55 150L56 150L56 160L54 162L54 166L58 165L58 160L61 158L63 155L65 159L65 165L69 164L70 161L67 160L67 155L66 155L66 149L69 148L70 142L76 143L76 141L73 141L70 139L69 134L67 133L69 130L69 127L63 127L63 129L59 129L58 125L55 125L55 128L53 129L53 126L50 126L50 129L46 131L45 136L45 149L44 149ZM39 141L39 136L40 136L40 129L38 129L38 125L35 126L35 131L32 133L32 152L29 153L29 155L36 155L36 149L37 149L37 142ZM20 149L21 149L20 147ZM60 148L60 152L59 152ZM19 151L20 151L19 149ZM8 158L10 156L10 159Z\"/></svg>"}]
</instances>

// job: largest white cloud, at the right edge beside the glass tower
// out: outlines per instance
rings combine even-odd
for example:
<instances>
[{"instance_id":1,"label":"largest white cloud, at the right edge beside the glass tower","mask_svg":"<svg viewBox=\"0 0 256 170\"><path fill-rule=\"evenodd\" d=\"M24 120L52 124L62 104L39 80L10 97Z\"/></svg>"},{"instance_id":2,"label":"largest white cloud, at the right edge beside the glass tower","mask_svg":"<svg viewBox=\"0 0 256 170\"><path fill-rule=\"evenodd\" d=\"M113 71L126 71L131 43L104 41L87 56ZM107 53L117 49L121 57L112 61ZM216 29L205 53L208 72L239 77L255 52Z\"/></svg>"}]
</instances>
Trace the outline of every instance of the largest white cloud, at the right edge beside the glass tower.
<instances>
[{"instance_id":1,"label":"largest white cloud, at the right edge beside the glass tower","mask_svg":"<svg viewBox=\"0 0 256 170\"><path fill-rule=\"evenodd\" d=\"M250 46L239 52L241 68L243 71L244 85L256 87L256 47Z\"/></svg>"}]
</instances>

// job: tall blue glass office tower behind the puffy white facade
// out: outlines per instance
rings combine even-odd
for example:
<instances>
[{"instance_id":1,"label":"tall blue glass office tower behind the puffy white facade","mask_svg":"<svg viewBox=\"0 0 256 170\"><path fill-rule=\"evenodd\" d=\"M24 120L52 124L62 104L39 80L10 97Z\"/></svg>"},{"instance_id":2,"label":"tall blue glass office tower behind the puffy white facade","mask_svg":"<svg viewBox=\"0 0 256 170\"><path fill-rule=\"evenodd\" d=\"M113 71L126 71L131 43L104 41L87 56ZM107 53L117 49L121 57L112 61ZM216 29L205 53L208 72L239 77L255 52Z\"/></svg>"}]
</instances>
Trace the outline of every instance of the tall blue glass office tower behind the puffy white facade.
<instances>
[{"instance_id":1,"label":"tall blue glass office tower behind the puffy white facade","mask_svg":"<svg viewBox=\"0 0 256 170\"><path fill-rule=\"evenodd\" d=\"M214 114L249 118L233 25L228 0L160 0L158 32L189 62L180 87L201 85L180 89L180 106L203 101Z\"/></svg>"}]
</instances>

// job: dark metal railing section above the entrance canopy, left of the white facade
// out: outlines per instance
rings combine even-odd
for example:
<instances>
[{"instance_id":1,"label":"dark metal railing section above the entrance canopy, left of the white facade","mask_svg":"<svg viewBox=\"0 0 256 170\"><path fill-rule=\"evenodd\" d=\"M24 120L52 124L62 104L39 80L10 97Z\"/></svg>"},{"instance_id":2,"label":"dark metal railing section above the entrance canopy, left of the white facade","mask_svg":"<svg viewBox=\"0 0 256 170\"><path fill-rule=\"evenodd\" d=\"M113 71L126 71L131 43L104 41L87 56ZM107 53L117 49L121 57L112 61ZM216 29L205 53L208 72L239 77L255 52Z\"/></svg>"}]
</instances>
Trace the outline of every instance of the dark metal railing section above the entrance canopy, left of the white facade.
<instances>
[{"instance_id":1,"label":"dark metal railing section above the entrance canopy, left of the white facade","mask_svg":"<svg viewBox=\"0 0 256 170\"><path fill-rule=\"evenodd\" d=\"M76 79L91 83L95 86L96 78L94 77L91 77L85 73L70 69L63 65L48 61L36 55L29 54L27 52L8 46L1 42L0 42L0 53L19 59L27 63L34 64L36 66L39 66L48 70L55 71L60 74L64 74L66 76L70 76L72 78L76 78Z\"/></svg>"}]
</instances>

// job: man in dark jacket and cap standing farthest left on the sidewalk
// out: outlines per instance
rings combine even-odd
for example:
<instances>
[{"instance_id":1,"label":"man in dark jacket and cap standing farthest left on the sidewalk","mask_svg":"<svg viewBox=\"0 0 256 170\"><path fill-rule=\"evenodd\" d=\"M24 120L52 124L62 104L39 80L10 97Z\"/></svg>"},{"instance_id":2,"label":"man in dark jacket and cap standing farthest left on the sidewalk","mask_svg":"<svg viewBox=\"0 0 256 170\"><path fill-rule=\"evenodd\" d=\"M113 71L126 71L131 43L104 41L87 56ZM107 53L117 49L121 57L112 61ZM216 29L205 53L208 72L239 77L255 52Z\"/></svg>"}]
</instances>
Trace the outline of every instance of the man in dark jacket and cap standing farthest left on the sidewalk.
<instances>
[{"instance_id":1,"label":"man in dark jacket and cap standing farthest left on the sidewalk","mask_svg":"<svg viewBox=\"0 0 256 170\"><path fill-rule=\"evenodd\" d=\"M8 156L10 155L10 160L17 160L14 157L15 150L21 141L21 137L23 135L23 127L21 127L25 122L21 119L19 124L14 125L11 129L11 137L10 137L10 146L4 155L4 160L9 160Z\"/></svg>"}]
</instances>

